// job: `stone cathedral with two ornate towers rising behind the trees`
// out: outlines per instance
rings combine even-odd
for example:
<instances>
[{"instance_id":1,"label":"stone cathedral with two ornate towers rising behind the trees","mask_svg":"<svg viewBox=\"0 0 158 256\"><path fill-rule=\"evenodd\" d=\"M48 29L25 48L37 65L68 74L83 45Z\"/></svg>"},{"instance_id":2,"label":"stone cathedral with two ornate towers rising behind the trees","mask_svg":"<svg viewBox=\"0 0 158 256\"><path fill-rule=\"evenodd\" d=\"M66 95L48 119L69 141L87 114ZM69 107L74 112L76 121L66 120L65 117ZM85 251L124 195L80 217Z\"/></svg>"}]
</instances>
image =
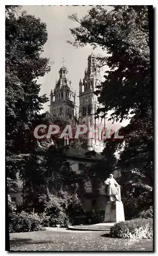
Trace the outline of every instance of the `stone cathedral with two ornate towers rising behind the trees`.
<instances>
[{"instance_id":1,"label":"stone cathedral with two ornate towers rising behind the trees","mask_svg":"<svg viewBox=\"0 0 158 256\"><path fill-rule=\"evenodd\" d=\"M63 61L64 63L64 61ZM52 115L68 116L70 119L77 117L76 92L73 91L71 80L67 77L68 70L63 67L59 70L59 79L56 81L54 92L50 95L50 113ZM102 108L95 94L96 87L101 84L100 68L98 67L96 56L92 53L87 59L87 68L84 78L79 81L79 116L78 124L87 127L102 126L105 129L105 118L96 118L96 111ZM87 139L87 150L102 152L103 141L98 138L97 133Z\"/></svg>"}]
</instances>

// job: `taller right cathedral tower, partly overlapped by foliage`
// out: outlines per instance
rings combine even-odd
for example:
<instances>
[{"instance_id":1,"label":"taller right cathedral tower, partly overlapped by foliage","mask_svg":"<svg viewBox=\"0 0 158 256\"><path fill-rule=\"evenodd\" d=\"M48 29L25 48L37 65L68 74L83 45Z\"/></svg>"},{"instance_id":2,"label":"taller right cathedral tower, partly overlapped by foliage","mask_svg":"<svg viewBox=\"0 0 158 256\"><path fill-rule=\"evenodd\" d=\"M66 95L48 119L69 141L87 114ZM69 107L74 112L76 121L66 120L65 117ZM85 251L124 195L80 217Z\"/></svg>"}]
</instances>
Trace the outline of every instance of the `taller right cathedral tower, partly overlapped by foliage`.
<instances>
[{"instance_id":1,"label":"taller right cathedral tower, partly overlapped by foliage","mask_svg":"<svg viewBox=\"0 0 158 256\"><path fill-rule=\"evenodd\" d=\"M100 68L97 65L97 59L92 53L88 56L87 69L84 72L83 81L79 82L79 124L85 124L88 127L102 125L105 127L105 118L95 118L95 113L102 105L98 102L95 95L96 87L101 84ZM88 138L87 150L95 150L102 152L104 143L98 139L98 135L94 134L92 138Z\"/></svg>"}]
</instances>

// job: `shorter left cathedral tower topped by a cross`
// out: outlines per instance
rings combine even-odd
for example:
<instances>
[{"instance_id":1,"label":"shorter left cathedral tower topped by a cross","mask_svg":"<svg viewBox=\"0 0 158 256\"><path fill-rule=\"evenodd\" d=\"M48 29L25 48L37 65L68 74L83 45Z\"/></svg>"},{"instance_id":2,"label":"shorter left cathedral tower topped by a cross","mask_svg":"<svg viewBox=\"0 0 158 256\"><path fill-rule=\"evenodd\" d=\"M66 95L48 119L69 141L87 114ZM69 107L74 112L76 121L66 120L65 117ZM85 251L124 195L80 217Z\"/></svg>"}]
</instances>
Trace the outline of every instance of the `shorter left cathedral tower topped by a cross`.
<instances>
[{"instance_id":1,"label":"shorter left cathedral tower topped by a cross","mask_svg":"<svg viewBox=\"0 0 158 256\"><path fill-rule=\"evenodd\" d=\"M68 70L63 66L59 70L59 79L56 81L54 92L51 90L50 113L73 119L76 117L76 92L73 92L67 74Z\"/></svg>"}]
</instances>

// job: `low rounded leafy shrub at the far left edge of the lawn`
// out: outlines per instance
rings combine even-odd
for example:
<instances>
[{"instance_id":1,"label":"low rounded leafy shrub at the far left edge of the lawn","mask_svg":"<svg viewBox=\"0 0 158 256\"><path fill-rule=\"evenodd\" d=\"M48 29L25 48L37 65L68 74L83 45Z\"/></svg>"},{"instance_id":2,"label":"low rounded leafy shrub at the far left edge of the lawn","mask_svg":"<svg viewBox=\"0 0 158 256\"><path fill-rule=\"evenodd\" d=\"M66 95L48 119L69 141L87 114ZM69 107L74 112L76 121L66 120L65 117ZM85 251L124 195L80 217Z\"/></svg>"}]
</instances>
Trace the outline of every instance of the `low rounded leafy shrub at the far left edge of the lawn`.
<instances>
[{"instance_id":1,"label":"low rounded leafy shrub at the far left edge of the lawn","mask_svg":"<svg viewBox=\"0 0 158 256\"><path fill-rule=\"evenodd\" d=\"M21 211L20 213L13 216L10 221L9 231L10 232L30 232L41 230L42 219L34 211L31 213Z\"/></svg>"}]
</instances>

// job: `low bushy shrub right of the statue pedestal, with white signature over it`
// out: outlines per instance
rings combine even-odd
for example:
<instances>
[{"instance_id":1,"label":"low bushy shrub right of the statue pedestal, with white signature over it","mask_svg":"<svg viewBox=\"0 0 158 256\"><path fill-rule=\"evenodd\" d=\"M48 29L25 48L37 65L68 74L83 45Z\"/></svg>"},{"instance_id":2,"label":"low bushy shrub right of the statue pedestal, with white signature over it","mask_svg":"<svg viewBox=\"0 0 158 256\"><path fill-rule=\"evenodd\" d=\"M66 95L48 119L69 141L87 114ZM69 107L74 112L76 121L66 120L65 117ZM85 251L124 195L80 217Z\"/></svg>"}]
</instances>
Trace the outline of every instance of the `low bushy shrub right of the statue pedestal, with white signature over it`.
<instances>
[{"instance_id":1,"label":"low bushy shrub right of the statue pedestal, with white signature over it","mask_svg":"<svg viewBox=\"0 0 158 256\"><path fill-rule=\"evenodd\" d=\"M129 238L129 233L134 234L138 228L148 226L148 231L152 234L152 219L133 219L116 223L110 228L110 237Z\"/></svg>"}]
</instances>

